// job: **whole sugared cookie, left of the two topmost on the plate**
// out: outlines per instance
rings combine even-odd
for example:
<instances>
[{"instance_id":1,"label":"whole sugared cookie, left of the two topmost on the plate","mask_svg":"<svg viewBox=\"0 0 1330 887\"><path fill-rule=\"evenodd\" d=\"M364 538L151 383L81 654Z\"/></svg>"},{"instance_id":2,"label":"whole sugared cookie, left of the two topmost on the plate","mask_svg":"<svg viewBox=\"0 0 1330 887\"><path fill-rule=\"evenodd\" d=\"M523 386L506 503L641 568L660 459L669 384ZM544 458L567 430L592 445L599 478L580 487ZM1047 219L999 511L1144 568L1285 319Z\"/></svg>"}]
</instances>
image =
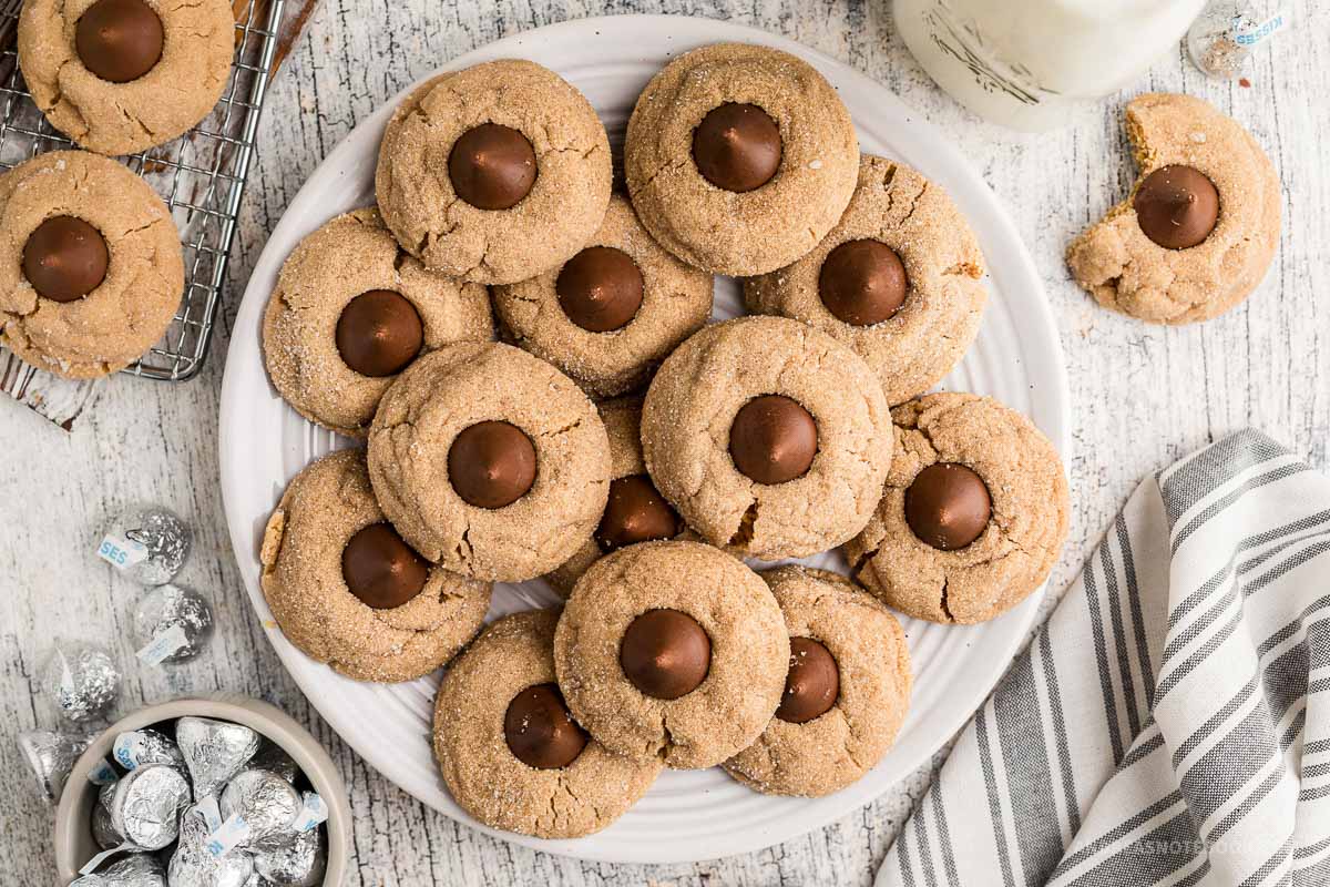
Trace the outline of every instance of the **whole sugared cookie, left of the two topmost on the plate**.
<instances>
[{"instance_id":1,"label":"whole sugared cookie, left of the two topmost on the plate","mask_svg":"<svg viewBox=\"0 0 1330 887\"><path fill-rule=\"evenodd\" d=\"M573 258L609 203L609 140L580 92L505 59L428 81L394 112L379 210L430 269L516 283Z\"/></svg>"}]
</instances>

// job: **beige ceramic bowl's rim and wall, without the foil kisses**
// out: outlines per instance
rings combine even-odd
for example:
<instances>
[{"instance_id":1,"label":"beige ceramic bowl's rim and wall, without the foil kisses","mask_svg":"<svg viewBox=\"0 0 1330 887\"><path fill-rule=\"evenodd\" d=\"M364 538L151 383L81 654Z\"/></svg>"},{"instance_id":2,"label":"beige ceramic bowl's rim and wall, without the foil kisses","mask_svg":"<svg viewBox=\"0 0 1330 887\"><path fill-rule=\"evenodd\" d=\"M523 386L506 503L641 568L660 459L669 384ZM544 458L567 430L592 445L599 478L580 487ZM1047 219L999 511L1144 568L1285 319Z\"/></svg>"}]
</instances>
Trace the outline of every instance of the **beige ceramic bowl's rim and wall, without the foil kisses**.
<instances>
[{"instance_id":1,"label":"beige ceramic bowl's rim and wall, without the foil kisses","mask_svg":"<svg viewBox=\"0 0 1330 887\"><path fill-rule=\"evenodd\" d=\"M92 859L100 847L92 836L92 806L97 803L97 786L88 782L88 773L102 759L110 758L110 746L125 730L138 730L162 721L188 715L243 723L281 746L305 773L306 779L329 806L325 823L329 838L327 874L325 887L336 887L346 874L351 846L351 805L346 783L332 765L332 758L315 742L314 737L282 710L245 696L219 694L189 699L173 699L150 705L121 718L93 739L65 783L65 791L56 807L56 868L57 883L64 887L78 876L78 868Z\"/></svg>"}]
</instances>

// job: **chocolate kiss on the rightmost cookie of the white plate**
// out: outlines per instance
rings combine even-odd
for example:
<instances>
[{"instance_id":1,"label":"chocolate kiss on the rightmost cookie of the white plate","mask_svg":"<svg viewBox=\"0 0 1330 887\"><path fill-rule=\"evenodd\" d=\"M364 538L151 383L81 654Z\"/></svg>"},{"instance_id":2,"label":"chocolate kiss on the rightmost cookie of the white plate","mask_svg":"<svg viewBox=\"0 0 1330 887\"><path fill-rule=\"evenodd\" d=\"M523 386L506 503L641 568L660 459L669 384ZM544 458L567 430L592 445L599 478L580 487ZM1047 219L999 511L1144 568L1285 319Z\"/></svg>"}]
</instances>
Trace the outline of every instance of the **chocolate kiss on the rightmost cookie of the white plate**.
<instances>
[{"instance_id":1,"label":"chocolate kiss on the rightmost cookie of the white plate","mask_svg":"<svg viewBox=\"0 0 1330 887\"><path fill-rule=\"evenodd\" d=\"M922 541L944 552L964 548L988 527L992 499L966 465L928 465L906 489L906 523Z\"/></svg>"}]
</instances>

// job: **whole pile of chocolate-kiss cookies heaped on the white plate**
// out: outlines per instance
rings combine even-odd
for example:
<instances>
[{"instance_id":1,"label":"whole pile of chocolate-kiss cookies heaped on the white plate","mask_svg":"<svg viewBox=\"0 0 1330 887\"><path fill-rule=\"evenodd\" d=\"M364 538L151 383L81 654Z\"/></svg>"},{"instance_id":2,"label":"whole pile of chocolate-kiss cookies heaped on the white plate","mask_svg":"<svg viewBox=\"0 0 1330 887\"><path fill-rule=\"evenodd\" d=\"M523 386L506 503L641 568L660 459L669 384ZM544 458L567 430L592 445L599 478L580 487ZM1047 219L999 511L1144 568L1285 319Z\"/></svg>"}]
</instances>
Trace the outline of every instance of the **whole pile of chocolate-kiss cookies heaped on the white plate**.
<instances>
[{"instance_id":1,"label":"whole pile of chocolate-kiss cookies heaped on the white plate","mask_svg":"<svg viewBox=\"0 0 1330 887\"><path fill-rule=\"evenodd\" d=\"M604 827L661 767L850 785L908 706L888 608L992 618L1067 532L1025 418L923 394L980 322L974 235L935 184L861 157L813 68L681 56L637 101L624 178L555 73L443 74L388 124L378 206L299 245L263 324L282 396L367 442L274 511L277 621L359 680L451 661L443 778L547 838ZM716 274L751 317L708 324ZM837 548L853 578L749 565ZM481 630L492 582L537 577L561 610Z\"/></svg>"}]
</instances>

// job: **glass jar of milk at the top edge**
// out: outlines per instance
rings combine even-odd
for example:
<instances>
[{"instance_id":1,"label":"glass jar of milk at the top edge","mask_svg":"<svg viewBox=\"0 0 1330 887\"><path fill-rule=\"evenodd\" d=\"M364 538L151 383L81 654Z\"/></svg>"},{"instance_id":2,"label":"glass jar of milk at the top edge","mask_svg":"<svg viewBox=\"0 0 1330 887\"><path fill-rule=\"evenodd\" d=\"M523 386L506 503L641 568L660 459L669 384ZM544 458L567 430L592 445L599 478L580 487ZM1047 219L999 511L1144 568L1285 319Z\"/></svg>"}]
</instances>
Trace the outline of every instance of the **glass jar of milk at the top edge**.
<instances>
[{"instance_id":1,"label":"glass jar of milk at the top edge","mask_svg":"<svg viewBox=\"0 0 1330 887\"><path fill-rule=\"evenodd\" d=\"M1069 122L1177 45L1205 0L895 0L910 52L958 101L1004 126Z\"/></svg>"}]
</instances>

